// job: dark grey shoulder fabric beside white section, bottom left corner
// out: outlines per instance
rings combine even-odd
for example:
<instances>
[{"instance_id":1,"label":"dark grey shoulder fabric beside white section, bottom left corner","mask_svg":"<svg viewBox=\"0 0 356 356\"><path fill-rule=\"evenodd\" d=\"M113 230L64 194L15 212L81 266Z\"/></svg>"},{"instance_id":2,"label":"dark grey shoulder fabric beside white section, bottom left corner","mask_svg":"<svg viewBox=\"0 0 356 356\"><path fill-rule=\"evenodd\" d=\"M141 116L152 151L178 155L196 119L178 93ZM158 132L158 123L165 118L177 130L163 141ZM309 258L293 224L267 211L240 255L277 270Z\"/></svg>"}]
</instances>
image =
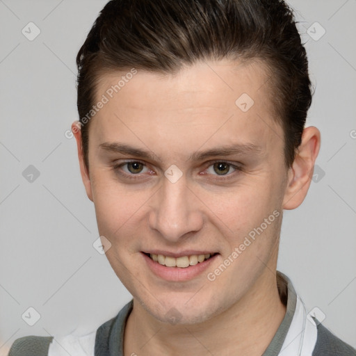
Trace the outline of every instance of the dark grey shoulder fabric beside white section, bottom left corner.
<instances>
[{"instance_id":1,"label":"dark grey shoulder fabric beside white section, bottom left corner","mask_svg":"<svg viewBox=\"0 0 356 356\"><path fill-rule=\"evenodd\" d=\"M47 356L54 337L20 337L10 348L8 356Z\"/></svg>"}]
</instances>

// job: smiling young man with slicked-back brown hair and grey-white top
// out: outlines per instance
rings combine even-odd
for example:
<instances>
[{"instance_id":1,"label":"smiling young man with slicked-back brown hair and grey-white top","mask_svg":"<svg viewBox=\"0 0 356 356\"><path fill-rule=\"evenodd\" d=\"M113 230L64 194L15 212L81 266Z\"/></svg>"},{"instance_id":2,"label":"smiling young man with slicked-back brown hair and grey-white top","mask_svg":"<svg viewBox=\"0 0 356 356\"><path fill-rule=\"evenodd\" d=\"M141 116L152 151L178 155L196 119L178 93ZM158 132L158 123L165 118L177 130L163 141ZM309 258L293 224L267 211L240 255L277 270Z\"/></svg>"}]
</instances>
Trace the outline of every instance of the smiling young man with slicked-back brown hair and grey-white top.
<instances>
[{"instance_id":1,"label":"smiling young man with slicked-back brown hair and grey-white top","mask_svg":"<svg viewBox=\"0 0 356 356\"><path fill-rule=\"evenodd\" d=\"M276 271L320 132L283 1L110 1L77 56L81 176L133 296L13 355L356 355Z\"/></svg>"}]
</instances>

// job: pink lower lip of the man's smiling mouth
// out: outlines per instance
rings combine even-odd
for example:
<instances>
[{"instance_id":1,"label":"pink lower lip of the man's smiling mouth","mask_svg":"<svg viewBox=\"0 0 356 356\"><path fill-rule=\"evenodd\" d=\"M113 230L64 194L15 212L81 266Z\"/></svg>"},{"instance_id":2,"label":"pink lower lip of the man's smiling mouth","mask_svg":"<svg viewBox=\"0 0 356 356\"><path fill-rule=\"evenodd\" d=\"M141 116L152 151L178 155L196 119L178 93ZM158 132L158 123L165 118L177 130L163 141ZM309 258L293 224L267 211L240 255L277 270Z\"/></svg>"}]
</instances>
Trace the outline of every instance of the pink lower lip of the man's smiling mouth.
<instances>
[{"instance_id":1,"label":"pink lower lip of the man's smiling mouth","mask_svg":"<svg viewBox=\"0 0 356 356\"><path fill-rule=\"evenodd\" d=\"M194 277L197 277L198 275L202 274L204 270L207 270L209 266L211 266L213 261L216 259L216 257L218 257L218 254L214 254L213 257L210 257L209 259L206 259L203 262L199 262L194 266L180 268L162 266L158 262L149 258L147 254L144 254L143 252L141 252L141 254L143 255L150 270L152 270L155 275L161 277L163 280L173 282L193 280Z\"/></svg>"}]
</instances>

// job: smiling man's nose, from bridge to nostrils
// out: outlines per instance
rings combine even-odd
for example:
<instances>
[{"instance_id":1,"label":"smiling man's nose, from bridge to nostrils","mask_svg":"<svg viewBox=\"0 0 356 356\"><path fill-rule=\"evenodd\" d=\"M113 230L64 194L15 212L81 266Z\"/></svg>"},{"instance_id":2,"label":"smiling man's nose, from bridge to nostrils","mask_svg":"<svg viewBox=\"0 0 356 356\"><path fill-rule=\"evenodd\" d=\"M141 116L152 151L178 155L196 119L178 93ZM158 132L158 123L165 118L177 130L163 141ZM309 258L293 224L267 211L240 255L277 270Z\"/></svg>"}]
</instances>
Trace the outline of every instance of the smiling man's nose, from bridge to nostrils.
<instances>
[{"instance_id":1,"label":"smiling man's nose, from bridge to nostrils","mask_svg":"<svg viewBox=\"0 0 356 356\"><path fill-rule=\"evenodd\" d=\"M202 229L203 215L199 205L184 176L175 183L163 179L163 186L149 204L149 227L166 240L177 242L189 232Z\"/></svg>"}]
</instances>

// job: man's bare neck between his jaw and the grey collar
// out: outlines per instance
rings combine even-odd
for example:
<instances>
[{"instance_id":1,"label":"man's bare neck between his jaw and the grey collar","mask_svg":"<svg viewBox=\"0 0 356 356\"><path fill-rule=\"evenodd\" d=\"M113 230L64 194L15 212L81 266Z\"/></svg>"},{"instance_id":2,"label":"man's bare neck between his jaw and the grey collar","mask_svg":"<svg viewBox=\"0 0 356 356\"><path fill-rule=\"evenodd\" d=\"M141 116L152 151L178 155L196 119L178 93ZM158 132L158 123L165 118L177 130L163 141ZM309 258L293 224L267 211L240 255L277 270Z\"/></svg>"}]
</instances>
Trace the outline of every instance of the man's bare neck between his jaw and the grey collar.
<instances>
[{"instance_id":1,"label":"man's bare neck between his jaw and the grey collar","mask_svg":"<svg viewBox=\"0 0 356 356\"><path fill-rule=\"evenodd\" d=\"M170 325L153 318L133 299L124 333L124 355L260 356L284 318L276 277L266 268L232 307L198 324ZM222 353L223 350L223 353Z\"/></svg>"}]
</instances>

